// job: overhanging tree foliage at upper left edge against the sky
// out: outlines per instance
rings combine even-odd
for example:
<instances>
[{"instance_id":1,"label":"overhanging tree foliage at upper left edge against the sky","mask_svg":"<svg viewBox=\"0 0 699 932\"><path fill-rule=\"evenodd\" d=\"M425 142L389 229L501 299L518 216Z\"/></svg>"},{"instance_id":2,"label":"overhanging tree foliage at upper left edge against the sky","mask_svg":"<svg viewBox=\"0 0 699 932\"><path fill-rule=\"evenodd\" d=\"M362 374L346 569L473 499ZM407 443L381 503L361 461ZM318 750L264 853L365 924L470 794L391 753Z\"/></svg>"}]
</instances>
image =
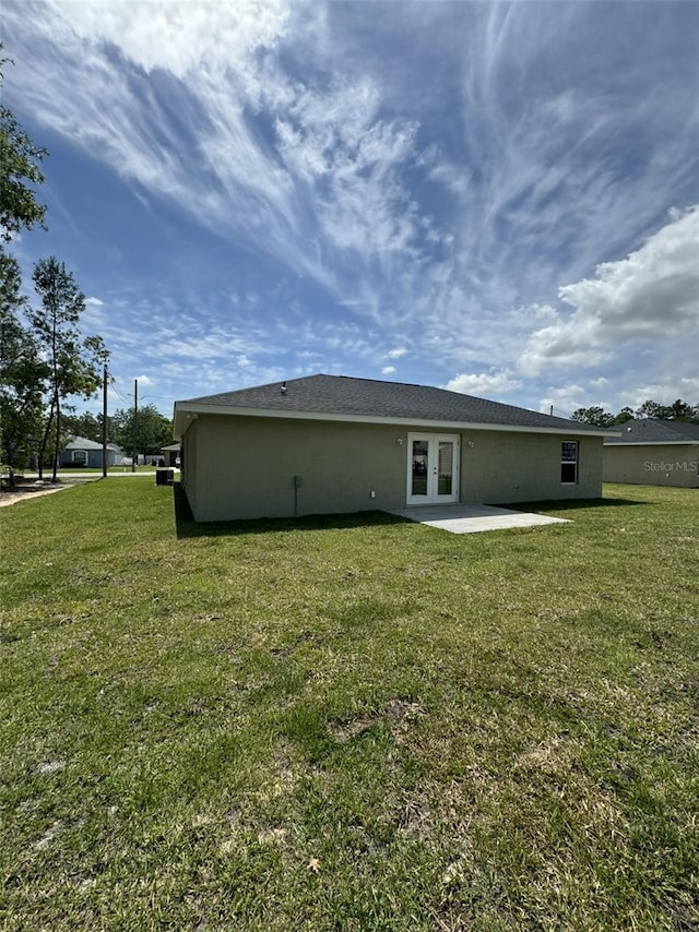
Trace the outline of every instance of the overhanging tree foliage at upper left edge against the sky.
<instances>
[{"instance_id":1,"label":"overhanging tree foliage at upper left edge against the sky","mask_svg":"<svg viewBox=\"0 0 699 932\"><path fill-rule=\"evenodd\" d=\"M0 86L2 65L9 61L0 59ZM45 155L46 150L34 145L14 113L0 106L0 239L4 242L35 224L44 226L46 207L37 202L33 186L44 181L39 163Z\"/></svg>"}]
</instances>

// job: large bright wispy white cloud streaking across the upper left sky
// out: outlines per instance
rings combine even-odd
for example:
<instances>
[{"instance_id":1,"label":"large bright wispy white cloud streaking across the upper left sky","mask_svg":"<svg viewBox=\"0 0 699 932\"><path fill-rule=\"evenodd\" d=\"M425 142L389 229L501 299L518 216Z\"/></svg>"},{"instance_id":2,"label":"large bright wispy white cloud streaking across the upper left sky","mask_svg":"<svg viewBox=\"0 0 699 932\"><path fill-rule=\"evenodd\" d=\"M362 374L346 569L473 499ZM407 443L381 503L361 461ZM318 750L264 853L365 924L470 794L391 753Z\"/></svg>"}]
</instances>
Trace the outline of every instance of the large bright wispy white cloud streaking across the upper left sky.
<instances>
[{"instance_id":1,"label":"large bright wispy white cloud streaking across the upper left sky","mask_svg":"<svg viewBox=\"0 0 699 932\"><path fill-rule=\"evenodd\" d=\"M35 116L151 194L336 296L345 253L386 270L387 252L413 248L414 206L394 169L416 124L381 118L366 77L328 88L325 75L315 86L282 68L275 49L294 24L309 27L308 11L281 0L8 7L25 60L42 36L45 67L19 73Z\"/></svg>"}]
</instances>

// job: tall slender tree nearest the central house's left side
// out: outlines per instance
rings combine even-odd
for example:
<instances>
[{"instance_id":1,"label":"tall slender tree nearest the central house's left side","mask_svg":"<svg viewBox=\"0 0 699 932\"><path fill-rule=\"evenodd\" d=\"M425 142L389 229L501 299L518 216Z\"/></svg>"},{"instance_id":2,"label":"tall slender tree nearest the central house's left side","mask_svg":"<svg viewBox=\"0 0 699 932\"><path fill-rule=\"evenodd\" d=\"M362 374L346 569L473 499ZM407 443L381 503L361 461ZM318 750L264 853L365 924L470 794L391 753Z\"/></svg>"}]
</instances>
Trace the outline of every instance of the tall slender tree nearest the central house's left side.
<instances>
[{"instance_id":1,"label":"tall slender tree nearest the central house's left side","mask_svg":"<svg viewBox=\"0 0 699 932\"><path fill-rule=\"evenodd\" d=\"M47 378L49 413L39 447L39 476L49 437L54 439L52 479L56 481L61 442L61 404L80 395L88 398L102 384L102 367L108 359L99 336L82 337L78 327L85 310L85 296L72 273L55 256L40 259L34 266L34 288L42 307L32 309L29 322L49 368Z\"/></svg>"}]
</instances>

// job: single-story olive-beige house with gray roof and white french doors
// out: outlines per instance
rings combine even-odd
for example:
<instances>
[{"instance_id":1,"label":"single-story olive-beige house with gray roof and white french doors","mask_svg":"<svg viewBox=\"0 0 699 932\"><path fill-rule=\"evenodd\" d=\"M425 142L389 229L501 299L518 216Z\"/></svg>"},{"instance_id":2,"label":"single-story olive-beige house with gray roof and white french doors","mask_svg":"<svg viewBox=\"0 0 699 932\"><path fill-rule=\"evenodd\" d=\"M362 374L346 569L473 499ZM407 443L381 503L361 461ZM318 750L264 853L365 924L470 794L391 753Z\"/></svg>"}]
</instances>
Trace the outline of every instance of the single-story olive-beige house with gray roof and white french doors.
<instances>
[{"instance_id":1,"label":"single-story olive-beige house with gray roof and white french doors","mask_svg":"<svg viewBox=\"0 0 699 932\"><path fill-rule=\"evenodd\" d=\"M597 498L600 428L442 389L311 375L175 403L196 521Z\"/></svg>"}]
</instances>

